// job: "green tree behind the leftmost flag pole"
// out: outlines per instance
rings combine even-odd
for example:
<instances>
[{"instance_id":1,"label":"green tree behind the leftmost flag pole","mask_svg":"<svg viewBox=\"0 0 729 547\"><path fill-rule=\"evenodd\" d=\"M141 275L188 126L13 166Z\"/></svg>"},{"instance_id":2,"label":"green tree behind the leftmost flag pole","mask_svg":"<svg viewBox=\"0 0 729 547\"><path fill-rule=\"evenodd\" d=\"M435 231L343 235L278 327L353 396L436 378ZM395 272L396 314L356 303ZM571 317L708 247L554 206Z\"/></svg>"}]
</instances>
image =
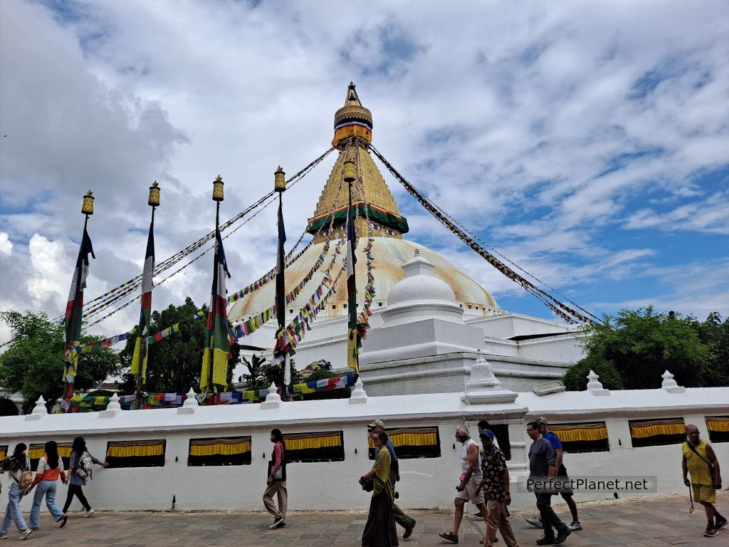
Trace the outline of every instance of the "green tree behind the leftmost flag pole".
<instances>
[{"instance_id":1,"label":"green tree behind the leftmost flag pole","mask_svg":"<svg viewBox=\"0 0 729 547\"><path fill-rule=\"evenodd\" d=\"M52 322L44 312L3 311L0 319L10 327L13 338L0 355L2 390L20 393L23 411L30 411L40 395L52 408L63 395L63 324ZM100 339L82 335L81 343ZM119 371L119 358L111 349L79 354L74 389L85 392Z\"/></svg>"}]
</instances>

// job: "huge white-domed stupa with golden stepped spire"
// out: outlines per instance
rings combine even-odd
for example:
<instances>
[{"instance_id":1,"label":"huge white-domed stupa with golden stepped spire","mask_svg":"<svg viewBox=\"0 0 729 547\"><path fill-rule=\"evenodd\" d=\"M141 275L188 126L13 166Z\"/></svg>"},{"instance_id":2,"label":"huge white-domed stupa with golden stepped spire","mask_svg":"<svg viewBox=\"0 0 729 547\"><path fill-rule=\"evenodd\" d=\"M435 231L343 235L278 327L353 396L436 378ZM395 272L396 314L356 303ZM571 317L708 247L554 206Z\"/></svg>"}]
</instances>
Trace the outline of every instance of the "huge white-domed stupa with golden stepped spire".
<instances>
[{"instance_id":1,"label":"huge white-domed stupa with golden stepped spire","mask_svg":"<svg viewBox=\"0 0 729 547\"><path fill-rule=\"evenodd\" d=\"M356 139L353 139L356 137ZM488 355L504 387L530 391L534 384L560 379L566 368L582 357L579 330L572 325L501 309L494 297L438 252L404 238L408 220L369 152L373 115L362 105L354 83L348 85L344 106L334 118L335 147L339 156L324 184L308 233L313 244L295 262L286 265L286 291L311 270L321 256L335 258L338 271L346 253L335 257L335 241L345 235L348 195L342 184L344 163L356 163L359 182L351 201L358 237L356 263L357 305L367 284L368 240L374 264L371 280L370 330L362 346L360 371L373 395L463 391L469 364L479 350ZM352 143L355 146L352 146ZM333 219L332 219L333 217ZM324 251L328 249L325 254ZM489 267L484 263L484 267ZM313 274L316 287L324 268ZM287 319L305 305L302 291L286 306ZM268 309L275 299L269 283L236 300L228 309L230 322L248 319ZM313 330L296 348L299 368L321 359L343 367L346 354L347 292L339 290L319 312ZM262 325L246 337L246 344L270 348L275 322ZM270 357L270 352L269 352Z\"/></svg>"}]
</instances>

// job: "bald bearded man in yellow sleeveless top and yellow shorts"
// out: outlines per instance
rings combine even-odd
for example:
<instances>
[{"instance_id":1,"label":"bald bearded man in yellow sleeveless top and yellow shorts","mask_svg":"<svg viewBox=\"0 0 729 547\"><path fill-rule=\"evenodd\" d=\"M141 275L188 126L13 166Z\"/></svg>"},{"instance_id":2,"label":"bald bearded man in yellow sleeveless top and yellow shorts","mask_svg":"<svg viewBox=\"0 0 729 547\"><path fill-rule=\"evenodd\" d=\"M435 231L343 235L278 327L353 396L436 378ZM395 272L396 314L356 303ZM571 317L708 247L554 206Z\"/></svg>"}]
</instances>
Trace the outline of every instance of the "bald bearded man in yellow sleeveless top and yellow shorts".
<instances>
[{"instance_id":1,"label":"bald bearded man in yellow sleeveless top and yellow shorts","mask_svg":"<svg viewBox=\"0 0 729 547\"><path fill-rule=\"evenodd\" d=\"M717 490L722 487L722 476L714 449L706 441L701 441L700 433L694 424L686 426L686 442L681 446L683 452L681 470L684 484L690 487L693 499L701 503L706 511L706 520L709 524L706 525L703 535L706 538L713 538L719 533L717 530L727 524L727 519L714 507ZM691 480L688 478L689 475Z\"/></svg>"}]
</instances>

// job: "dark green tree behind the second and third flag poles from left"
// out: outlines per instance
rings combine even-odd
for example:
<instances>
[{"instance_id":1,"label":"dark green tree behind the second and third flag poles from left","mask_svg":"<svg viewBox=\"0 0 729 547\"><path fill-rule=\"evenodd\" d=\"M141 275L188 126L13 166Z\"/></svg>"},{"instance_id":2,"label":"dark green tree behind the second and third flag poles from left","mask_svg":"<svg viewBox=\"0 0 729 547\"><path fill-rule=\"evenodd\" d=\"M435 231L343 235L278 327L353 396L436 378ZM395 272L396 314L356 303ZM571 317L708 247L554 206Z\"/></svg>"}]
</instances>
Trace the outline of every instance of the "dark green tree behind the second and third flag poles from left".
<instances>
[{"instance_id":1,"label":"dark green tree behind the second and third flag poles from left","mask_svg":"<svg viewBox=\"0 0 729 547\"><path fill-rule=\"evenodd\" d=\"M149 346L147 354L147 381L144 391L157 393L185 393L190 387L198 389L200 368L203 362L206 319L193 319L200 310L187 297L182 306L168 306L163 311L152 314L149 327L151 335L159 333L176 323L180 324L179 333ZM119 354L122 368L131 368L136 338L130 337ZM123 376L120 390L129 395L136 392L136 376L129 372Z\"/></svg>"}]
</instances>

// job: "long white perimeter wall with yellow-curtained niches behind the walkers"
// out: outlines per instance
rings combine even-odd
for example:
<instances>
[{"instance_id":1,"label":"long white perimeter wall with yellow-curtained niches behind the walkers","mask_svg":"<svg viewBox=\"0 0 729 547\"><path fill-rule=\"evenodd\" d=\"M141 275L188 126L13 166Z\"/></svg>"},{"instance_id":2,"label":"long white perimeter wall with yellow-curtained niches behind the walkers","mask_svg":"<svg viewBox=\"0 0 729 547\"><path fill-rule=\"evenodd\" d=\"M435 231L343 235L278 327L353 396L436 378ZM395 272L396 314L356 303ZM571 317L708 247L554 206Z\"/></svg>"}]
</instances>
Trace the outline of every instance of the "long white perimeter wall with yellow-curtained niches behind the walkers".
<instances>
[{"instance_id":1,"label":"long white perimeter wall with yellow-curtained niches behind the walkers","mask_svg":"<svg viewBox=\"0 0 729 547\"><path fill-rule=\"evenodd\" d=\"M515 403L468 405L459 393L370 397L366 403L324 400L281 403L279 408L259 405L196 408L194 414L177 409L120 411L101 414L44 415L0 418L0 444L12 451L15 443L69 442L86 438L92 454L104 459L109 441L165 439L165 465L160 468L96 468L86 494L101 510L259 510L272 445L269 433L343 432L343 462L292 463L288 468L289 508L292 510L365 510L369 494L357 479L371 468L367 458L366 424L382 419L391 427L439 428L440 457L404 459L402 481L397 484L399 505L404 508L451 508L460 474L458 446L453 430L475 422L509 424L512 480L527 474L525 424L538 416L550 423L606 422L610 450L566 454L571 476L658 476L659 493L684 492L681 449L678 445L634 449L629 419L683 418L697 424L706 437L706 416L729 416L729 388L663 389L612 392L598 397L591 392L563 392L537 397L522 393ZM251 465L188 467L190 438L250 435ZM729 467L729 443L714 445L722 465ZM515 492L512 486L512 492ZM625 494L639 495L639 494ZM620 494L621 497L625 497ZM612 499L612 493L579 493L576 499ZM65 488L59 490L61 501ZM77 502L74 502L76 504ZM30 500L23 500L25 511ZM515 494L515 508L531 508L531 494ZM75 507L75 505L74 505Z\"/></svg>"}]
</instances>

